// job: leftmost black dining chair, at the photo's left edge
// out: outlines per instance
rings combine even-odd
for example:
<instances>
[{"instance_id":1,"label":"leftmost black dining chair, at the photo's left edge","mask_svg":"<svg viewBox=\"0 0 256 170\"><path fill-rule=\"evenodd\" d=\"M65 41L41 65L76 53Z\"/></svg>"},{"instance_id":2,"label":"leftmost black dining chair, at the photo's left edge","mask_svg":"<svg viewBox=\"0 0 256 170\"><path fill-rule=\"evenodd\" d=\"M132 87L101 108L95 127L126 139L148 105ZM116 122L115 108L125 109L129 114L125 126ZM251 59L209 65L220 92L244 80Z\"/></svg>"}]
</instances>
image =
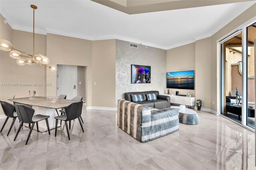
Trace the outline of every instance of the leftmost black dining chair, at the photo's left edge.
<instances>
[{"instance_id":1,"label":"leftmost black dining chair, at the photo's left edge","mask_svg":"<svg viewBox=\"0 0 256 170\"><path fill-rule=\"evenodd\" d=\"M11 103L8 103L8 102L5 102L5 101L0 101L0 103L1 103L2 109L4 111L4 115L7 116L5 121L4 121L4 125L1 128L0 132L2 132L2 130L4 129L4 126L5 126L6 122L8 121L8 119L12 118L12 124L11 124L11 127L10 127L8 133L7 133L7 136L8 136L10 131L11 131L11 129L12 129L12 127L13 127L13 125L14 125L14 122L15 122L15 120L17 118L17 113L14 112L15 111L15 106L12 105Z\"/></svg>"}]
</instances>

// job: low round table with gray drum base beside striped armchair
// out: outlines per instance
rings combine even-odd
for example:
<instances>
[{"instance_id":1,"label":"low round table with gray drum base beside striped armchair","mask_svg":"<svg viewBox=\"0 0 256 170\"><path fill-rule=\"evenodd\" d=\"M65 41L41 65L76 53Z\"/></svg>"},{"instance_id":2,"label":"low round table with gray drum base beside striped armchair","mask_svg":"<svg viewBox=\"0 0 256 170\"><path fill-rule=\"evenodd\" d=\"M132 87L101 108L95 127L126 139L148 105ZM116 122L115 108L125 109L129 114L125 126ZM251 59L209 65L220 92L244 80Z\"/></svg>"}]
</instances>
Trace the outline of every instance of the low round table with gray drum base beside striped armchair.
<instances>
[{"instance_id":1,"label":"low round table with gray drum base beside striped armchair","mask_svg":"<svg viewBox=\"0 0 256 170\"><path fill-rule=\"evenodd\" d=\"M184 123L187 125L197 125L199 123L199 118L195 111L188 108L180 110L180 107L178 106L172 106L171 108L179 110L180 123Z\"/></svg>"}]
</instances>

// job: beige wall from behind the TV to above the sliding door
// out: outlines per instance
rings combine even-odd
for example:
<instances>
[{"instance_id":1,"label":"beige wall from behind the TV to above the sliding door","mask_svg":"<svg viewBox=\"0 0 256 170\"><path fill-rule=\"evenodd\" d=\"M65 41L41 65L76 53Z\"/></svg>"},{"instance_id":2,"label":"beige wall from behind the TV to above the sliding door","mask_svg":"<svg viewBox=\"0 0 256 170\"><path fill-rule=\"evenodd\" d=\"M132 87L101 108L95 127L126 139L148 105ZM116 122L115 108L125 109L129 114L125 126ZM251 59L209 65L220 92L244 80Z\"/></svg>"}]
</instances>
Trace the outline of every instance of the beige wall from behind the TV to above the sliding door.
<instances>
[{"instance_id":1,"label":"beige wall from behind the TV to above the sliding door","mask_svg":"<svg viewBox=\"0 0 256 170\"><path fill-rule=\"evenodd\" d=\"M189 69L192 69L193 67L192 65L196 65L194 66L196 92L194 91L192 95L196 95L197 99L201 98L201 100L202 99L205 100L203 104L205 103L206 105L202 107L212 109L213 111L218 112L217 105L219 100L217 100L217 97L219 94L217 92L217 87L219 87L219 84L217 81L217 77L218 77L219 70L217 71L217 67L218 67L217 61L219 60L219 58L217 55L217 40L219 40L220 38L223 38L224 36L228 36L228 34L231 34L232 32L234 32L234 30L236 30L237 27L241 26L242 24L251 20L254 17L256 17L256 4L248 8L248 10L246 10L241 15L236 17L234 20L232 20L230 23L224 26L224 28L216 32L210 38L198 40L195 43L190 43L187 45L183 45L180 47L167 50L167 63L166 63L167 72L174 71L174 70L175 71L189 70ZM192 46L194 46L195 49L192 49L193 48ZM202 48L204 48L204 50L203 50L203 53L200 54L202 52L201 51ZM193 53L193 51L195 51L196 55L194 57L195 58L194 61L191 61L192 55L188 55L188 54ZM206 55L207 53L208 55ZM204 63L202 61L204 61ZM176 63L176 64L174 65L172 63ZM180 63L180 64L177 64L177 63ZM202 65L202 67L200 67L200 65ZM204 67L204 65L208 65L208 68L210 69L210 73L209 73L209 70L207 70L207 67ZM208 79L208 77L206 77L206 79L200 79L204 74L207 74L210 77L210 79ZM204 84L205 87L202 87L202 84ZM180 91L182 94L185 93L184 90L183 91L178 90L178 91ZM205 94L207 94L207 96Z\"/></svg>"}]
</instances>

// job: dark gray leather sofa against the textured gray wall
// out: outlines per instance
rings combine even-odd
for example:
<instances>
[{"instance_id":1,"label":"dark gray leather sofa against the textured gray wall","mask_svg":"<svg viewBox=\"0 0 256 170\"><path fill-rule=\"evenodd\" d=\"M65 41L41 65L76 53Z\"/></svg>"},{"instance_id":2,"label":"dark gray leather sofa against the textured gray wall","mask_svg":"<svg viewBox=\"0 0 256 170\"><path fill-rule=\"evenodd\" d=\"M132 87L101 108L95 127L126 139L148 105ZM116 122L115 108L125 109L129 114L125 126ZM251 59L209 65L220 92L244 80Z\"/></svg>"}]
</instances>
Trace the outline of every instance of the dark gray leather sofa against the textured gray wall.
<instances>
[{"instance_id":1,"label":"dark gray leather sofa against the textured gray wall","mask_svg":"<svg viewBox=\"0 0 256 170\"><path fill-rule=\"evenodd\" d=\"M146 94L151 94L151 93L155 93L157 99L147 101ZM133 102L131 95L142 95L144 97L144 101ZM171 103L170 103L171 98L169 96L159 95L159 91L142 91L142 92L124 93L124 99L127 101L131 101L133 103L138 103L140 105L144 105L144 106L148 106L156 109L166 109L171 107Z\"/></svg>"}]
</instances>

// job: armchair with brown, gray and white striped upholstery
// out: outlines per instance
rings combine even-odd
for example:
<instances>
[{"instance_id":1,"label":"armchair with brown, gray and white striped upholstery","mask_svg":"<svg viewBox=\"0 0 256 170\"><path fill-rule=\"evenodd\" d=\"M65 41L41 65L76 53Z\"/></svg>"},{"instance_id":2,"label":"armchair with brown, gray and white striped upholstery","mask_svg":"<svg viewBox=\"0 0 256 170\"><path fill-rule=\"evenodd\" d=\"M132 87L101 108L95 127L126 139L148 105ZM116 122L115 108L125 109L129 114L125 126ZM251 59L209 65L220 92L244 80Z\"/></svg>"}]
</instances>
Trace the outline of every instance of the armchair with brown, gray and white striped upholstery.
<instances>
[{"instance_id":1,"label":"armchair with brown, gray and white striped upholstery","mask_svg":"<svg viewBox=\"0 0 256 170\"><path fill-rule=\"evenodd\" d=\"M140 142L148 142L179 130L177 109L154 109L118 100L118 127Z\"/></svg>"}]
</instances>

